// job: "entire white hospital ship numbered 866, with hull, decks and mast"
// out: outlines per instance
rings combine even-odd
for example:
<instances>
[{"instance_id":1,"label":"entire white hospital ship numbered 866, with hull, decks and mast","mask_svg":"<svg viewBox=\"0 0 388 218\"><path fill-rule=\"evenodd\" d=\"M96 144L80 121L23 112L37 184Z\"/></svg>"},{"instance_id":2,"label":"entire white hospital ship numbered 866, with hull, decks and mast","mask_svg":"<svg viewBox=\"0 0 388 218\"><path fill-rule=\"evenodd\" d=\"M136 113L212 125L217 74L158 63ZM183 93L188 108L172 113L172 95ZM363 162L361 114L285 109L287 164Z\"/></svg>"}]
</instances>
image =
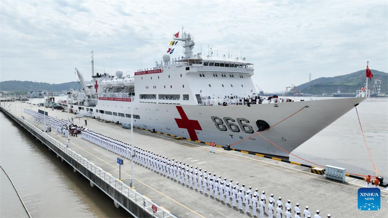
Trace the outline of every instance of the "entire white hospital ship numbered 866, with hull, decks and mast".
<instances>
[{"instance_id":1,"label":"entire white hospital ship numbered 866, with hull, decks and mast","mask_svg":"<svg viewBox=\"0 0 388 218\"><path fill-rule=\"evenodd\" d=\"M194 54L189 33L173 40L181 42L183 56L172 59L165 54L161 62L136 71L134 77L124 77L118 70L114 76L92 75L92 81L85 82L77 70L82 90L71 90L68 100L59 103L69 106L71 112L115 123L129 123L133 116L137 127L289 156L367 97L294 102L275 96L263 100L251 78L254 65L245 58Z\"/></svg>"}]
</instances>

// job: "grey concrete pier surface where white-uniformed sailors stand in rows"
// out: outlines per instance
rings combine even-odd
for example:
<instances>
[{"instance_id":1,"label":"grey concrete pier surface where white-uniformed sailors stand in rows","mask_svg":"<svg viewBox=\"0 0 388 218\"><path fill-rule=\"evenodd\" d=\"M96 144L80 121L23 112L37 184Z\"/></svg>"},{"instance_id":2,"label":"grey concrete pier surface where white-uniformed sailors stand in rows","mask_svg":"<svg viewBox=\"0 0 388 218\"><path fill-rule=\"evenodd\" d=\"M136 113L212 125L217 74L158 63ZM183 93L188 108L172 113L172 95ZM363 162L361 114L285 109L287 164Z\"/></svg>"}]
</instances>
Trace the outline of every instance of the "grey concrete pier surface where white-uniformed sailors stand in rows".
<instances>
[{"instance_id":1,"label":"grey concrete pier surface where white-uniformed sailors stand in rows","mask_svg":"<svg viewBox=\"0 0 388 218\"><path fill-rule=\"evenodd\" d=\"M32 107L33 110L38 110L37 106L25 103L12 104L16 104L16 114L19 115L23 108L30 109ZM10 108L14 109L14 107L12 105ZM67 117L65 112L46 110L51 117L62 119ZM22 115L25 116L25 120L31 119L26 113ZM84 126L83 120L86 119L87 127L93 131L128 143L131 141L130 131L122 128L121 125L98 122L91 118L81 118L79 123L75 115L69 114L69 117L74 118L76 125ZM38 128L42 129L43 126L38 126ZM55 131L50 132L49 136L61 143L65 143L67 140L61 135L56 135ZM116 163L118 156L116 154L81 139L81 136L70 137L70 141L72 151L111 173L113 177L118 177L119 171ZM320 210L322 218L325 218L327 214L331 214L333 218L386 218L388 214L388 191L384 189L381 189L381 210L366 212L357 209L357 190L360 187L365 187L362 180L349 177L346 178L345 183L327 180L323 175L311 173L311 169L306 167L241 152L225 151L221 148L216 148L216 152L213 154L204 144L188 140L174 140L173 137L139 129L134 129L134 144L162 156L182 161L182 163L186 162L193 165L194 168L202 168L202 171L216 173L217 178L219 175L222 176L222 179L226 177L228 182L233 179L233 184L239 182L240 187L242 184L245 184L246 188L252 186L253 191L255 188L259 188L260 194L262 191L266 191L267 204L272 193L275 195L275 200L282 197L283 204L287 200L291 200L292 211L295 203L300 203L302 211L305 206L309 206L312 215L315 214L316 210ZM62 154L60 151L58 152L59 155ZM124 166L121 169L124 183L129 184L131 172L128 160L124 160ZM96 181L95 184L98 182ZM134 187L136 191L145 195L145 198L152 199L150 201L163 208L168 208L177 217L253 217L252 208L247 214L244 210L238 210L236 207L195 191L193 188L183 186L138 164L134 166ZM283 215L284 212L283 210ZM257 216L259 217L259 212ZM268 212L264 217L268 217ZM292 213L292 217L294 217L294 213Z\"/></svg>"}]
</instances>

